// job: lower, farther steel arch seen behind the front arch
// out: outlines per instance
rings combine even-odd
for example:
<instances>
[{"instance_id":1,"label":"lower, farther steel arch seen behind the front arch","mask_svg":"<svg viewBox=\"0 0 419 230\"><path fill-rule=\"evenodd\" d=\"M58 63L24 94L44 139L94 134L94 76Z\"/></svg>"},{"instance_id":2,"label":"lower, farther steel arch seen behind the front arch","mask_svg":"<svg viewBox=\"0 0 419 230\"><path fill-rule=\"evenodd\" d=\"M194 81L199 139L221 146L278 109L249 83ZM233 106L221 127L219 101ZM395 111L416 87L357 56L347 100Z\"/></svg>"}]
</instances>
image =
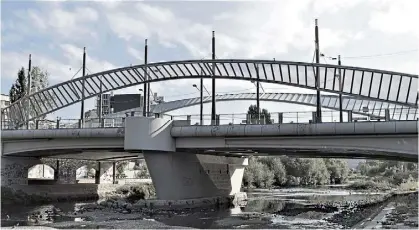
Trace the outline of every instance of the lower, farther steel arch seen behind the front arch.
<instances>
[{"instance_id":1,"label":"lower, farther steel arch seen behind the front arch","mask_svg":"<svg viewBox=\"0 0 419 230\"><path fill-rule=\"evenodd\" d=\"M206 96L202 99L203 103L210 103L211 96ZM260 93L261 101L285 102L291 104L316 106L316 94L302 94L302 93ZM216 95L218 102L222 101L249 101L256 100L256 93L236 93L236 94L222 94ZM173 110L186 108L190 106L199 105L200 97L180 99L175 101L163 102L161 104L150 105L150 112L152 113L167 113ZM323 108L339 110L339 96L336 95L321 95L321 104ZM368 111L364 108L367 107ZM385 109L389 109L391 120L415 120L417 118L417 108L404 107L392 103L382 101L372 101L357 99L354 97L342 97L342 109L345 112L351 111L354 114L370 117L385 117ZM142 111L142 107L132 108L109 114L107 117L120 117L121 113L129 113L132 111Z\"/></svg>"}]
</instances>

